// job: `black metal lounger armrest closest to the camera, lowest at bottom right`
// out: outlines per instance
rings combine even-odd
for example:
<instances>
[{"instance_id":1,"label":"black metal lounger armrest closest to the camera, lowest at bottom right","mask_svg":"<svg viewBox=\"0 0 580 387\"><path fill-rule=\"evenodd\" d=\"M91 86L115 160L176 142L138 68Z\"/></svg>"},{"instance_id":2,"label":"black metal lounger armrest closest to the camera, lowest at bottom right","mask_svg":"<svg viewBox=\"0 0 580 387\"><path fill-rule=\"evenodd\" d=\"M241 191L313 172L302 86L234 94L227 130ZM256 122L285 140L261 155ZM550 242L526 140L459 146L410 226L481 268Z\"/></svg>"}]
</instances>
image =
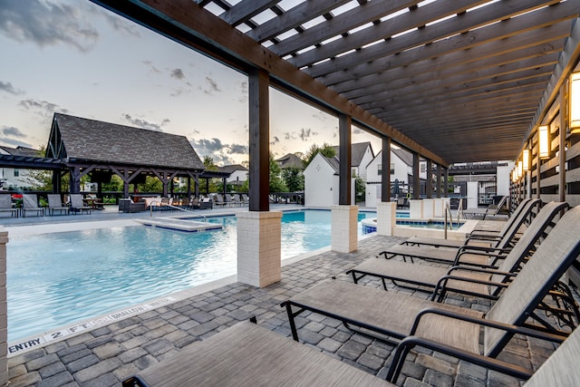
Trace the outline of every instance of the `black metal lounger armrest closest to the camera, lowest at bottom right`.
<instances>
[{"instance_id":1,"label":"black metal lounger armrest closest to the camera, lowest at bottom right","mask_svg":"<svg viewBox=\"0 0 580 387\"><path fill-rule=\"evenodd\" d=\"M532 371L527 370L517 364L507 363L492 357L484 356L478 353L470 353L468 351L460 350L459 348L451 347L443 343L433 342L431 340L419 337L408 336L401 340L397 345L391 367L387 373L388 382L396 382L401 373L402 365L405 363L405 358L411 349L415 346L427 348L439 353L444 353L449 356L456 357L466 362L476 364L478 366L486 367L489 370L501 372L518 379L529 379L532 376Z\"/></svg>"}]
</instances>

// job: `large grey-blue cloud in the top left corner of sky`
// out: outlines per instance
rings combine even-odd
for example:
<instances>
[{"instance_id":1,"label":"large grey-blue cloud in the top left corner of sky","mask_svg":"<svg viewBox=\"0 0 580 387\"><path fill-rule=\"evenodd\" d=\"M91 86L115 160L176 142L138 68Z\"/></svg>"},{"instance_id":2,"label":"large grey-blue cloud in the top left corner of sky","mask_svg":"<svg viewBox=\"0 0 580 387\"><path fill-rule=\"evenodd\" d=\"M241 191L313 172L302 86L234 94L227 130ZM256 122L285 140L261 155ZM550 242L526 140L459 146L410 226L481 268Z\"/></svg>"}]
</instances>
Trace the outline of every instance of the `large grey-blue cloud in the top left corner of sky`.
<instances>
[{"instance_id":1,"label":"large grey-blue cloud in the top left corner of sky","mask_svg":"<svg viewBox=\"0 0 580 387\"><path fill-rule=\"evenodd\" d=\"M65 44L82 53L91 51L99 39L77 6L41 0L2 0L0 33L20 43Z\"/></svg>"}]
</instances>

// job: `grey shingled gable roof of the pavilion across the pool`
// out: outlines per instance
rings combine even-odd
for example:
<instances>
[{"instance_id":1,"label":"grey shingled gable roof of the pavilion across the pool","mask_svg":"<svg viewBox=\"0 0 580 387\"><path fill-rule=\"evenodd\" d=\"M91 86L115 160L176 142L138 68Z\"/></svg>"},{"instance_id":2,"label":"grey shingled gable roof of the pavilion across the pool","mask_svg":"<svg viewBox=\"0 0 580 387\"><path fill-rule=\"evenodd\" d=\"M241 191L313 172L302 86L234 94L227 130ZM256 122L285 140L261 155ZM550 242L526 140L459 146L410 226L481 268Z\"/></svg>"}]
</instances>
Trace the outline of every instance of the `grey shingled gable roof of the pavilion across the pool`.
<instances>
[{"instance_id":1,"label":"grey shingled gable roof of the pavilion across the pool","mask_svg":"<svg viewBox=\"0 0 580 387\"><path fill-rule=\"evenodd\" d=\"M62 148L53 143L56 138L61 140ZM198 153L184 136L62 113L54 113L46 157L171 169L205 169Z\"/></svg>"}]
</instances>

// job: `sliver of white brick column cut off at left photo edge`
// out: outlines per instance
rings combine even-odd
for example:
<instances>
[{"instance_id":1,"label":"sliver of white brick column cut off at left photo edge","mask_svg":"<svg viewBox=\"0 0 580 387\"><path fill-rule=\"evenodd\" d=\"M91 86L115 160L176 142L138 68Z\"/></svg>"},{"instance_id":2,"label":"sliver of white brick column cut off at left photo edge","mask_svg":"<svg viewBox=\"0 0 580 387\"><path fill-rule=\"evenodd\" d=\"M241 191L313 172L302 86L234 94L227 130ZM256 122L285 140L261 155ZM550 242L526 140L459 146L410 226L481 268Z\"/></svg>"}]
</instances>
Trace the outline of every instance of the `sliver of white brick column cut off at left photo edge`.
<instances>
[{"instance_id":1,"label":"sliver of white brick column cut off at left photo edge","mask_svg":"<svg viewBox=\"0 0 580 387\"><path fill-rule=\"evenodd\" d=\"M8 232L0 228L0 385L8 382L8 302L6 295L6 243Z\"/></svg>"}]
</instances>

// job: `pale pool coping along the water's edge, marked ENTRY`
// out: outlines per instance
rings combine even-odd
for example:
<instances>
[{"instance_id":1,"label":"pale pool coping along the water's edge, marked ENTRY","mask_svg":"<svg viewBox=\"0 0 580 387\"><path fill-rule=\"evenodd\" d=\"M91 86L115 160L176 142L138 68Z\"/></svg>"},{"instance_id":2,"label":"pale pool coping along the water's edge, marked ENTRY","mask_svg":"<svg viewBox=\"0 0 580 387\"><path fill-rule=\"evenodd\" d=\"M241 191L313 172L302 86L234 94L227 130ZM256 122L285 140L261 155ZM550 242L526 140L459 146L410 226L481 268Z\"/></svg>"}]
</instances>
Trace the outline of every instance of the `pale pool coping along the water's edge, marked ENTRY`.
<instances>
[{"instance_id":1,"label":"pale pool coping along the water's edge, marked ENTRY","mask_svg":"<svg viewBox=\"0 0 580 387\"><path fill-rule=\"evenodd\" d=\"M317 209L317 208L304 208L304 209ZM370 211L372 212L372 211ZM231 214L235 215L235 214ZM227 216L225 214L212 214L213 217ZM31 225L31 226L19 226L19 227L5 227L8 230L8 236L11 237L11 232L14 228L18 228L16 231L16 237L22 237L24 235L35 235L35 234L45 234L45 233L56 233L65 231L79 231L85 229L97 229L106 227L134 227L143 226L140 222L133 219L126 220L102 220L102 221L92 221L92 222L82 222L82 223L61 223L59 226L68 225L64 227L65 229L55 230L54 227L49 227L51 225ZM73 228L73 225L76 228ZM82 226L82 227L80 227ZM358 240L363 240L368 237L372 237L376 233L369 233L358 237ZM14 237L14 235L12 235ZM331 251L331 246L321 247L313 251L309 251L298 256L292 256L283 259L281 262L282 266L287 266L300 262L304 259L310 258L312 256L317 256L319 254ZM136 305L130 305L125 308L114 310L110 313L100 314L97 316L89 317L84 320L80 320L73 324L64 324L60 327L56 327L42 333L32 334L26 336L22 339L14 340L8 342L7 346L7 356L8 358L32 351L37 348L42 348L43 346L58 343L60 341L69 339L73 336L83 334L87 331L106 326L112 323L118 323L122 320L130 318L132 316L142 314L158 308L164 305L170 305L192 297L194 295L201 295L203 293L211 292L222 286L235 284L237 282L237 275L225 276L214 281L210 281L205 284L191 286L187 289L179 290L178 292L170 293L168 295L160 295L158 297L151 298L150 300L139 303Z\"/></svg>"}]
</instances>

